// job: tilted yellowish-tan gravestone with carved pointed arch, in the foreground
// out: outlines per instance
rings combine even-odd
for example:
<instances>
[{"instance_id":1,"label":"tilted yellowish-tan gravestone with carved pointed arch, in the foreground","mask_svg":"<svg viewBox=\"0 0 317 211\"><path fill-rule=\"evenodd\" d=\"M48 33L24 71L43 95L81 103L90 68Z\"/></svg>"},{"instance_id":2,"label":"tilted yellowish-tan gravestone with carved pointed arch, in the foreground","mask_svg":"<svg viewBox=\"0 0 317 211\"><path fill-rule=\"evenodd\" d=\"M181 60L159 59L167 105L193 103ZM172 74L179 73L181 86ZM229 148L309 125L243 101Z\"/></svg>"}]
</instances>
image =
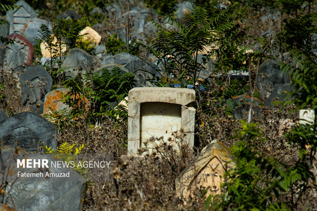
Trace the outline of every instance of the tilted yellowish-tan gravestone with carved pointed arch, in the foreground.
<instances>
[{"instance_id":1,"label":"tilted yellowish-tan gravestone with carved pointed arch, in the foreground","mask_svg":"<svg viewBox=\"0 0 317 211\"><path fill-rule=\"evenodd\" d=\"M197 190L206 190L206 197L220 194L224 172L235 168L233 160L230 150L213 140L175 179L177 196L188 199Z\"/></svg>"}]
</instances>

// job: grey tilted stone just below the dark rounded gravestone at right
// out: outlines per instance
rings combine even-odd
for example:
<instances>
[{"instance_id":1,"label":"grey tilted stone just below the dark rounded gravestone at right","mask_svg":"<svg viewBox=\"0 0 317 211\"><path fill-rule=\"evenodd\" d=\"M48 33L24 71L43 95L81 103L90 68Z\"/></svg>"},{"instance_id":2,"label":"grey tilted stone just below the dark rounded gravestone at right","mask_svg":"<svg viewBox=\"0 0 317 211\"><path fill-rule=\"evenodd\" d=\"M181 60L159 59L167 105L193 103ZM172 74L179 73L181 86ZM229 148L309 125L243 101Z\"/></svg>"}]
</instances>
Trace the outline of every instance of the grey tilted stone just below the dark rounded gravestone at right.
<instances>
[{"instance_id":1,"label":"grey tilted stone just below the dark rounded gravestone at right","mask_svg":"<svg viewBox=\"0 0 317 211\"><path fill-rule=\"evenodd\" d=\"M290 92L293 92L295 88L290 86L290 84L277 85L275 89L270 93L268 98L264 101L266 107L273 106L272 102L275 100L284 101L290 99L290 96L287 96Z\"/></svg>"}]
</instances>

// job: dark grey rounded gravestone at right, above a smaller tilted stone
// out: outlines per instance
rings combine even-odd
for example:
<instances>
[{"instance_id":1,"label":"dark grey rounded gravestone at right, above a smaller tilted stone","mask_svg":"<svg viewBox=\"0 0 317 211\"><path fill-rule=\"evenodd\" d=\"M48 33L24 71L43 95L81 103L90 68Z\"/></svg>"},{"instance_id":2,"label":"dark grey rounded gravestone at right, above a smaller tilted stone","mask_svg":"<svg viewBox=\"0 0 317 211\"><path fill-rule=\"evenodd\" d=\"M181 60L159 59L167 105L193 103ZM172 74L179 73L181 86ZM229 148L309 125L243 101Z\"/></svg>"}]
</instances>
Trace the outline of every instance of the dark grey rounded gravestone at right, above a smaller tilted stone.
<instances>
[{"instance_id":1,"label":"dark grey rounded gravestone at right, above a smaller tilted stone","mask_svg":"<svg viewBox=\"0 0 317 211\"><path fill-rule=\"evenodd\" d=\"M289 83L288 75L281 71L278 61L268 60L259 66L258 89L263 99L279 85Z\"/></svg>"}]
</instances>

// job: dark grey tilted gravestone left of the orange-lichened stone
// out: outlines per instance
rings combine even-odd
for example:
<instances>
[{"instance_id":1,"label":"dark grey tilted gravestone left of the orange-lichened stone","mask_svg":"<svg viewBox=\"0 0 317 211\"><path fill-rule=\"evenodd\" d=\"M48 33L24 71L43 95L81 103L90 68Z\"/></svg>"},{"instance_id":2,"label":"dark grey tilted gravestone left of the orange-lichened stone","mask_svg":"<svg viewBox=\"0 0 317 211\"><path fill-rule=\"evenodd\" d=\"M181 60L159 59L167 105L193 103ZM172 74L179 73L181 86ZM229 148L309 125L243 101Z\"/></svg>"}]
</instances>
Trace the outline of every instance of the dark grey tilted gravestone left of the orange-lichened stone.
<instances>
[{"instance_id":1,"label":"dark grey tilted gravestone left of the orange-lichened stone","mask_svg":"<svg viewBox=\"0 0 317 211\"><path fill-rule=\"evenodd\" d=\"M26 66L20 75L22 103L32 108L32 112L42 114L46 93L52 89L51 75L41 65Z\"/></svg>"}]
</instances>

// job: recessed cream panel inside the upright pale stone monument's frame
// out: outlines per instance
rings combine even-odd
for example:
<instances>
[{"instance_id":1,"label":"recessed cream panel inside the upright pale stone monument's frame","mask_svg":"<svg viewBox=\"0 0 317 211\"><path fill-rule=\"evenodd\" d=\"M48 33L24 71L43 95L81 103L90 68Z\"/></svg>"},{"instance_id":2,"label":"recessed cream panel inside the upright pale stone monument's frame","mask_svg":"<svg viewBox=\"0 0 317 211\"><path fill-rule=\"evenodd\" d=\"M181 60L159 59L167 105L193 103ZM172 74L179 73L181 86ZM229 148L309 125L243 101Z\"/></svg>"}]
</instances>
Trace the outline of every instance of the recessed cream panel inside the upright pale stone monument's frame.
<instances>
[{"instance_id":1,"label":"recessed cream panel inside the upright pale stone monument's frame","mask_svg":"<svg viewBox=\"0 0 317 211\"><path fill-rule=\"evenodd\" d=\"M160 141L151 141L145 146L149 139L163 137L163 140L173 138L172 133L179 131L182 127L182 106L180 104L165 102L141 103L140 118L140 140L141 147L147 147L151 152ZM174 147L177 148L177 145Z\"/></svg>"}]
</instances>

